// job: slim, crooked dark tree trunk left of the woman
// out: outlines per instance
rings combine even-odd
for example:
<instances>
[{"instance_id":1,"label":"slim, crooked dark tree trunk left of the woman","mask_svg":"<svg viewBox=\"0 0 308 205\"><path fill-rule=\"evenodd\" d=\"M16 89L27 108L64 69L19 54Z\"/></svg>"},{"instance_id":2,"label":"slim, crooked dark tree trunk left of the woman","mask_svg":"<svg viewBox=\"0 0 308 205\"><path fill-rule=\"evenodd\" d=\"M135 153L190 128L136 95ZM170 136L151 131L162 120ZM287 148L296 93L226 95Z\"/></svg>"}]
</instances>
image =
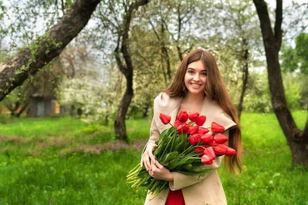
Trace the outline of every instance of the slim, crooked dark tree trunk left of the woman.
<instances>
[{"instance_id":1,"label":"slim, crooked dark tree trunk left of the woman","mask_svg":"<svg viewBox=\"0 0 308 205\"><path fill-rule=\"evenodd\" d=\"M133 89L132 89L132 76L133 76L133 65L131 61L131 56L129 53L129 42L128 42L128 32L130 27L130 22L132 18L132 13L138 9L139 6L145 5L149 2L149 0L140 0L129 6L129 9L126 10L126 14L124 15L123 31L118 31L118 42L117 47L114 49L115 60L117 61L117 65L120 71L126 77L126 90L122 97L120 107L117 114L117 119L114 121L114 131L117 139L128 142L126 135L126 126L125 126L125 117L130 105ZM125 60L126 66L124 66L121 56L120 56L120 39L122 38L122 46L121 53L123 54L123 58Z\"/></svg>"}]
</instances>

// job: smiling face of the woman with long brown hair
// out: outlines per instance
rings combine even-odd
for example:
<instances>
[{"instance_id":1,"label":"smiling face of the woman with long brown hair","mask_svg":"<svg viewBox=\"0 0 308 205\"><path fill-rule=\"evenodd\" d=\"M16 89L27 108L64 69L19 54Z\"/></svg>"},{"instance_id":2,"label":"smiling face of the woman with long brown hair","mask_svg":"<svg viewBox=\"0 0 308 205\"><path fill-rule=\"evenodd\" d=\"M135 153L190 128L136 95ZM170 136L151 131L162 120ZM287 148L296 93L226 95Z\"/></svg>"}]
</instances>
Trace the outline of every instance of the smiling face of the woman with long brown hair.
<instances>
[{"instance_id":1,"label":"smiling face of the woman with long brown hair","mask_svg":"<svg viewBox=\"0 0 308 205\"><path fill-rule=\"evenodd\" d=\"M188 92L191 94L204 92L206 80L206 69L201 60L192 62L187 66L184 82Z\"/></svg>"}]
</instances>

